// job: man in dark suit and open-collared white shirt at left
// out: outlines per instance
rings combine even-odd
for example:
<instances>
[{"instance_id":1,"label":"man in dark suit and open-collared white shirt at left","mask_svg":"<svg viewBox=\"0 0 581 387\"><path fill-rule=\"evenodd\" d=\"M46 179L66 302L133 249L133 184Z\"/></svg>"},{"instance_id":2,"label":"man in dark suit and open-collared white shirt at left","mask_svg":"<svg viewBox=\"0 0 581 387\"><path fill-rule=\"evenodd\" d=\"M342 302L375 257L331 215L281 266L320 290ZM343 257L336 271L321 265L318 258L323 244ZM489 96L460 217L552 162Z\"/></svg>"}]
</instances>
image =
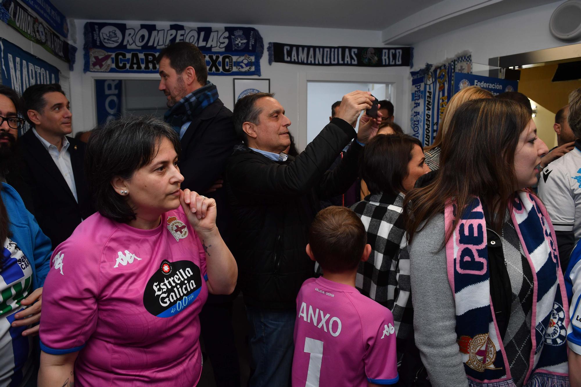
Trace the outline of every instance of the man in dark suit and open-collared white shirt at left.
<instances>
[{"instance_id":1,"label":"man in dark suit and open-collared white shirt at left","mask_svg":"<svg viewBox=\"0 0 581 387\"><path fill-rule=\"evenodd\" d=\"M83 168L85 144L66 136L73 115L59 84L28 87L22 99L32 126L19 139L24 176L38 224L54 249L94 213Z\"/></svg>"}]
</instances>

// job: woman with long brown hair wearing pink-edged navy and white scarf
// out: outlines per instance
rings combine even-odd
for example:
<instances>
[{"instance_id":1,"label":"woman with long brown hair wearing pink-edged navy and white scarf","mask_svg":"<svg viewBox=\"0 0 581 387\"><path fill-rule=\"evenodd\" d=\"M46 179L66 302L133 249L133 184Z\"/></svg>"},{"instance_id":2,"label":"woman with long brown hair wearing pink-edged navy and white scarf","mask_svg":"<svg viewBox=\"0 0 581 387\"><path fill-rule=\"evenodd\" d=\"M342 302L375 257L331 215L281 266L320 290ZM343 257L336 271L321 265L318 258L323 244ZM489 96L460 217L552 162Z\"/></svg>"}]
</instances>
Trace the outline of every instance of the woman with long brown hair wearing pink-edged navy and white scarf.
<instances>
[{"instance_id":1,"label":"woman with long brown hair wearing pink-edged navy and white scarf","mask_svg":"<svg viewBox=\"0 0 581 387\"><path fill-rule=\"evenodd\" d=\"M435 180L406 196L415 343L433 386L568 386L568 306L525 107L450 117Z\"/></svg>"}]
</instances>

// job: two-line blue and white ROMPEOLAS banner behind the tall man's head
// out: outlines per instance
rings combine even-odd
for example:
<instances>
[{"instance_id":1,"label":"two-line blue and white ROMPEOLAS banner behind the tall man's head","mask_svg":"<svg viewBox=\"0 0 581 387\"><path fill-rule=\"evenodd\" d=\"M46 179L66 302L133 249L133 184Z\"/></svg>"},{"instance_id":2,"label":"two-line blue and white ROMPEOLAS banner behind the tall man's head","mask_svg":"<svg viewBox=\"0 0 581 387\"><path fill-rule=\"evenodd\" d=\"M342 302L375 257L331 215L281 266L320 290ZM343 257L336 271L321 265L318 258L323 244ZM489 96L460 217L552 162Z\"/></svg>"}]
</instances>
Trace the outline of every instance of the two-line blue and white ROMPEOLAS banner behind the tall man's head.
<instances>
[{"instance_id":1,"label":"two-line blue and white ROMPEOLAS banner behind the tall man's head","mask_svg":"<svg viewBox=\"0 0 581 387\"><path fill-rule=\"evenodd\" d=\"M256 28L94 22L85 23L84 72L157 73L161 49L181 41L198 46L210 76L260 76L264 43Z\"/></svg>"}]
</instances>

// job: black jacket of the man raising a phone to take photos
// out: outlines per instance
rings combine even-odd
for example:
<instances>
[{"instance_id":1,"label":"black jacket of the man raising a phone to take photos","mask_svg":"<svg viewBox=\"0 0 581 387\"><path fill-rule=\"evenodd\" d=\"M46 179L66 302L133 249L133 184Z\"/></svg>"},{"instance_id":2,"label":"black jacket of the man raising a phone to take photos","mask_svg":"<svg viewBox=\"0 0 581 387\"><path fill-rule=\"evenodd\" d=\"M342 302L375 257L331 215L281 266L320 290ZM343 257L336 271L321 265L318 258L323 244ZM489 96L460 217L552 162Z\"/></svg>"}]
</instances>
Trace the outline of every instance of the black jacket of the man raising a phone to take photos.
<instances>
[{"instance_id":1,"label":"black jacket of the man raising a phone to take photos","mask_svg":"<svg viewBox=\"0 0 581 387\"><path fill-rule=\"evenodd\" d=\"M345 192L357 177L361 146L356 142L339 166L327 171L355 135L352 126L335 118L296 159L275 162L243 145L228 159L232 250L247 304L295 309L300 286L314 276L305 248L319 200Z\"/></svg>"}]
</instances>

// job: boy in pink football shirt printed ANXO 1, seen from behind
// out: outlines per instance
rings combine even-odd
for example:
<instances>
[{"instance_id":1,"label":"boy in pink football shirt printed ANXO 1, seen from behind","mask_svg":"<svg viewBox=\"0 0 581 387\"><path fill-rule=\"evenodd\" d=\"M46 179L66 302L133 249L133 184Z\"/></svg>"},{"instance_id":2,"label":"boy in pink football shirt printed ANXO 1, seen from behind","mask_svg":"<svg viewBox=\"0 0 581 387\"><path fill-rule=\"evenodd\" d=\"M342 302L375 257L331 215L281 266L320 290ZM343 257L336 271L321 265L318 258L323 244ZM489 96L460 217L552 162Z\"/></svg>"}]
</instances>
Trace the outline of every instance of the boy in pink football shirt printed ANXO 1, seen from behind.
<instances>
[{"instance_id":1,"label":"boy in pink football shirt printed ANXO 1, seen from behind","mask_svg":"<svg viewBox=\"0 0 581 387\"><path fill-rule=\"evenodd\" d=\"M395 384L392 313L355 288L371 252L365 227L346 207L327 207L309 231L307 254L323 276L304 281L296 298L293 387Z\"/></svg>"}]
</instances>

